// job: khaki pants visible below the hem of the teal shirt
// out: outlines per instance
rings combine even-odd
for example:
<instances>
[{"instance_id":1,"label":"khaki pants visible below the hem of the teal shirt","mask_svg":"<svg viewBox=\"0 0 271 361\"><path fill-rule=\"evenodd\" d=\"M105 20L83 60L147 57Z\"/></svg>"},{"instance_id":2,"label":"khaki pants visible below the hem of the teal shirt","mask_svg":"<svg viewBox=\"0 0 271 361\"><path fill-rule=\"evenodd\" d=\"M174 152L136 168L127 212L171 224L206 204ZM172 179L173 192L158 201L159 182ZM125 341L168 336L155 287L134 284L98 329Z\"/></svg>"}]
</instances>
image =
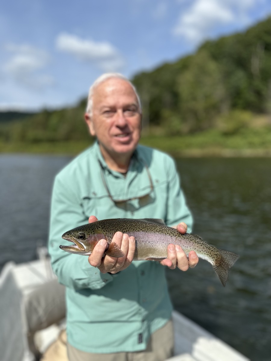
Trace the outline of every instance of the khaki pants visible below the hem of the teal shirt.
<instances>
[{"instance_id":1,"label":"khaki pants visible below the hem of the teal shirt","mask_svg":"<svg viewBox=\"0 0 271 361\"><path fill-rule=\"evenodd\" d=\"M155 331L146 350L138 352L88 353L67 344L69 361L164 361L173 356L173 323Z\"/></svg>"}]
</instances>

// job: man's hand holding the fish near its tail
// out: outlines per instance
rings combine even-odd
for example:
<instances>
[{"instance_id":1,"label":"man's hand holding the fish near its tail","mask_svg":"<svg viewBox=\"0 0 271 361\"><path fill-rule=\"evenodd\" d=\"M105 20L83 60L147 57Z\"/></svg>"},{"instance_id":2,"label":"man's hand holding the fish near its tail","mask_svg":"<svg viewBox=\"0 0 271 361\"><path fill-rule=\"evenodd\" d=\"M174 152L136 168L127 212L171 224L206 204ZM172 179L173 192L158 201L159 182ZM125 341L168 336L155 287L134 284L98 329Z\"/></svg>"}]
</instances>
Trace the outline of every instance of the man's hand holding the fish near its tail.
<instances>
[{"instance_id":1,"label":"man's hand holding the fish near its tail","mask_svg":"<svg viewBox=\"0 0 271 361\"><path fill-rule=\"evenodd\" d=\"M177 230L185 234L187 231L187 226L184 222L181 222L177 225ZM189 252L188 258L179 245L169 244L168 245L168 258L160 262L163 266L168 266L170 269L175 269L176 266L182 270L187 271L188 268L194 268L198 263L198 256L194 251Z\"/></svg>"}]
</instances>

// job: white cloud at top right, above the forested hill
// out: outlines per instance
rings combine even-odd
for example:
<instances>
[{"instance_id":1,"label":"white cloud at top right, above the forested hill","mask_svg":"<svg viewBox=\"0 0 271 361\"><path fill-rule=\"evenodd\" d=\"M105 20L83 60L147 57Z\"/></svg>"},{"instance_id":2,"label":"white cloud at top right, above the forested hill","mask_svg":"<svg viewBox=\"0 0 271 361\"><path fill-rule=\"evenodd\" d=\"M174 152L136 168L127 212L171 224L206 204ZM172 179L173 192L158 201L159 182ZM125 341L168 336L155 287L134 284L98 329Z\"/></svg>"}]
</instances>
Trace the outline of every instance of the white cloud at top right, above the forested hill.
<instances>
[{"instance_id":1,"label":"white cloud at top right, above the forested hill","mask_svg":"<svg viewBox=\"0 0 271 361\"><path fill-rule=\"evenodd\" d=\"M249 22L248 10L257 0L195 0L178 18L173 34L192 44L208 38L221 25Z\"/></svg>"}]
</instances>

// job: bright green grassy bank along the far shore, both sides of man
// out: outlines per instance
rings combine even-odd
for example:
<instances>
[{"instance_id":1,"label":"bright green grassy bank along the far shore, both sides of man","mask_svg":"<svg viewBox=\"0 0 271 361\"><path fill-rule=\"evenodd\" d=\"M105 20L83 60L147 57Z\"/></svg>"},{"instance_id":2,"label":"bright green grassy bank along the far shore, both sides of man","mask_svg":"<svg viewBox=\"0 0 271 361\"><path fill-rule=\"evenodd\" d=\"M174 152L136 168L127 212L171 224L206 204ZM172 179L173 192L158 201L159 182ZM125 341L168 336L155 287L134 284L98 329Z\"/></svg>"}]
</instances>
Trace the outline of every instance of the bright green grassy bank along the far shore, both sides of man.
<instances>
[{"instance_id":1,"label":"bright green grassy bank along the far shore, both sides of man","mask_svg":"<svg viewBox=\"0 0 271 361\"><path fill-rule=\"evenodd\" d=\"M76 155L89 141L1 143L1 153L43 153ZM209 130L193 135L143 135L141 144L158 148L173 156L271 156L271 128L244 129L234 135Z\"/></svg>"}]
</instances>

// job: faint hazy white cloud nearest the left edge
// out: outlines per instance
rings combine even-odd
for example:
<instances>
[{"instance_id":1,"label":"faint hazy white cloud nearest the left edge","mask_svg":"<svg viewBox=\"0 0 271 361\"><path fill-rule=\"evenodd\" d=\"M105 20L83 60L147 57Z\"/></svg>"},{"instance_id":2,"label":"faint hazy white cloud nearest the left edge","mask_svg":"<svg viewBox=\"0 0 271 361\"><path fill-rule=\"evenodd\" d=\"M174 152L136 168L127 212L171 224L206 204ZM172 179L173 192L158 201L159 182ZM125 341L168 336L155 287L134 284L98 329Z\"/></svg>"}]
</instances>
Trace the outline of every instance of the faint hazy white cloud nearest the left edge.
<instances>
[{"instance_id":1,"label":"faint hazy white cloud nearest the left edge","mask_svg":"<svg viewBox=\"0 0 271 361\"><path fill-rule=\"evenodd\" d=\"M4 64L5 74L22 86L41 90L53 84L50 75L40 73L49 62L47 52L28 44L7 44L5 50L12 56Z\"/></svg>"}]
</instances>

